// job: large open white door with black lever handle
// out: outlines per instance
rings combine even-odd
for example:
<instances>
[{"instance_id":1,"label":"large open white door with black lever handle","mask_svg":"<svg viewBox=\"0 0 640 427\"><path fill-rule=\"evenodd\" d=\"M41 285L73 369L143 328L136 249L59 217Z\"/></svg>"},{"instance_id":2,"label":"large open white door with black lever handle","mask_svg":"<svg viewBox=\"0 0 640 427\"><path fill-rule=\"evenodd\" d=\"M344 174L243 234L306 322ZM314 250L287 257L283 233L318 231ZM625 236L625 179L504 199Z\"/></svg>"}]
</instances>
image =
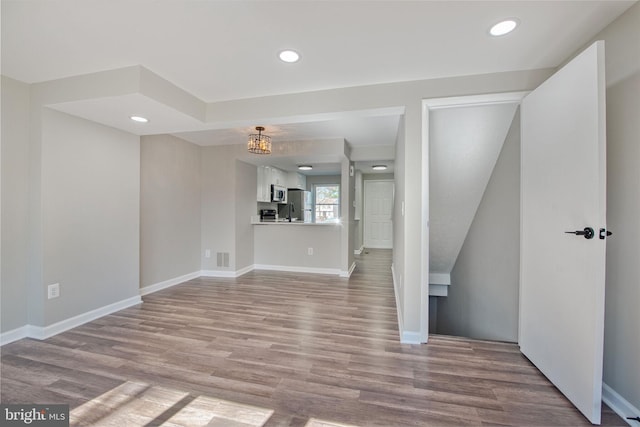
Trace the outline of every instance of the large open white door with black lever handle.
<instances>
[{"instance_id":1,"label":"large open white door with black lever handle","mask_svg":"<svg viewBox=\"0 0 640 427\"><path fill-rule=\"evenodd\" d=\"M605 81L597 42L522 102L522 353L600 423L604 333ZM586 239L584 228L594 230Z\"/></svg>"}]
</instances>

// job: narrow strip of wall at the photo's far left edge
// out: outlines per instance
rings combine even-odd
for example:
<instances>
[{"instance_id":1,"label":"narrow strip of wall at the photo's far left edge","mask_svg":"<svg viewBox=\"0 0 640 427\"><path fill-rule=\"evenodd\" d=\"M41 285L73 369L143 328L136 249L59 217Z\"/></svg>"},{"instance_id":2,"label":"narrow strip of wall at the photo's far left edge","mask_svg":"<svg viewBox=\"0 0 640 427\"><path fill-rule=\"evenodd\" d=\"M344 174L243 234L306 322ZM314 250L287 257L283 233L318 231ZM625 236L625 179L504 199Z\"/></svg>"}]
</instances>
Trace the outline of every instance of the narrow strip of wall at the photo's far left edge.
<instances>
[{"instance_id":1,"label":"narrow strip of wall at the photo's far left edge","mask_svg":"<svg viewBox=\"0 0 640 427\"><path fill-rule=\"evenodd\" d=\"M28 322L29 86L2 76L0 332Z\"/></svg>"}]
</instances>

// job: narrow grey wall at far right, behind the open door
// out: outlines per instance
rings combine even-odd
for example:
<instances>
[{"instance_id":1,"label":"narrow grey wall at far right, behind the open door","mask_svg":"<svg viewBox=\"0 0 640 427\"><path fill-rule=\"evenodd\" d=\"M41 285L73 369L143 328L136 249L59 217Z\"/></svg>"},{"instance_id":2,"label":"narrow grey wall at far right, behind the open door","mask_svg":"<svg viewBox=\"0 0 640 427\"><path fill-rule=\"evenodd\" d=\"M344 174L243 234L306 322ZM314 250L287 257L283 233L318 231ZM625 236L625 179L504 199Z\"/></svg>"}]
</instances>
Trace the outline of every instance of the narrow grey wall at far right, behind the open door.
<instances>
[{"instance_id":1,"label":"narrow grey wall at far right, behind the open door","mask_svg":"<svg viewBox=\"0 0 640 427\"><path fill-rule=\"evenodd\" d=\"M607 276L604 382L640 408L640 3L605 28ZM639 416L640 414L628 414Z\"/></svg>"}]
</instances>

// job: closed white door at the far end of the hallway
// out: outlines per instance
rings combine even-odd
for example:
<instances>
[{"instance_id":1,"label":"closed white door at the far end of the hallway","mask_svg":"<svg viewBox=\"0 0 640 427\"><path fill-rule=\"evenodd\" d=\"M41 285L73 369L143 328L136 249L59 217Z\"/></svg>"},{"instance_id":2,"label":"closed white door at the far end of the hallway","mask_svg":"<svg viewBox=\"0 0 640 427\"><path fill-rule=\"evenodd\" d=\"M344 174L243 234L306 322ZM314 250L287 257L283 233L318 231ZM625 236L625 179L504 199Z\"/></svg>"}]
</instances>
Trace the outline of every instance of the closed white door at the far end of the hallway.
<instances>
[{"instance_id":1,"label":"closed white door at the far end of the hallway","mask_svg":"<svg viewBox=\"0 0 640 427\"><path fill-rule=\"evenodd\" d=\"M364 182L364 246L393 247L393 181Z\"/></svg>"}]
</instances>

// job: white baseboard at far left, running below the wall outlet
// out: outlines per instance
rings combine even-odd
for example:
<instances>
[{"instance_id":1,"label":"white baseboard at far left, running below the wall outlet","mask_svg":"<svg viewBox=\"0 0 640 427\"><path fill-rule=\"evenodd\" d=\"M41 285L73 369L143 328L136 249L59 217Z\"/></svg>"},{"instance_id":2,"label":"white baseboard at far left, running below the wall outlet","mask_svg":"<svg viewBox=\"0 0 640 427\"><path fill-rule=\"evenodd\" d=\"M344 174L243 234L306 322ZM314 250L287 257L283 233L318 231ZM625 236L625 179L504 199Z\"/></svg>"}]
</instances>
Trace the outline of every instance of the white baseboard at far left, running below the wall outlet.
<instances>
[{"instance_id":1,"label":"white baseboard at far left, running below the wall outlet","mask_svg":"<svg viewBox=\"0 0 640 427\"><path fill-rule=\"evenodd\" d=\"M21 328L3 333L1 342L2 345L4 345L22 338L46 340L47 338L51 338L52 336L68 331L69 329L84 325L85 323L91 322L92 320L99 319L100 317L141 303L142 299L140 298L140 296L135 296L122 301L114 302L113 304L105 305L104 307L96 308L95 310L87 311L86 313L70 317L69 319L61 320L60 322L56 322L53 325L25 325ZM11 339L12 341L7 340L5 342L5 335L7 335L7 339Z\"/></svg>"}]
</instances>

